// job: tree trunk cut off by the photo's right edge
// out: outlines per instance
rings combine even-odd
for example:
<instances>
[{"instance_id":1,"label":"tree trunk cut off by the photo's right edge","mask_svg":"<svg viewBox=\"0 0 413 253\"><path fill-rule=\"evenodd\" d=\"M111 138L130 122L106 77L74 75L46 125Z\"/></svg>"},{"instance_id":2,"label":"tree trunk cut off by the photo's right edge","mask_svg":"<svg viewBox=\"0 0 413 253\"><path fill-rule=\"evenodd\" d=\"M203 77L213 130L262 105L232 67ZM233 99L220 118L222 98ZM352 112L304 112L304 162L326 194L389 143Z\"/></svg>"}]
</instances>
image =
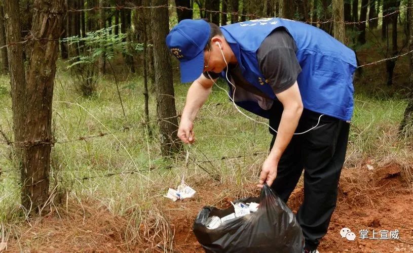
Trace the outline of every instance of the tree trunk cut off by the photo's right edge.
<instances>
[{"instance_id":1,"label":"tree trunk cut off by the photo's right edge","mask_svg":"<svg viewBox=\"0 0 413 253\"><path fill-rule=\"evenodd\" d=\"M413 0L407 0L407 8L413 8ZM411 11L408 15L408 21L409 23L409 51L413 51L413 15L411 15ZM409 55L409 60L410 60L410 71L409 71L409 82L410 82L410 90L413 90L413 53L410 53ZM400 123L400 128L399 128L399 133L400 135L403 136L413 136L413 93L410 93L410 96L408 97L408 104L407 107L404 111L404 116L403 119Z\"/></svg>"}]
</instances>

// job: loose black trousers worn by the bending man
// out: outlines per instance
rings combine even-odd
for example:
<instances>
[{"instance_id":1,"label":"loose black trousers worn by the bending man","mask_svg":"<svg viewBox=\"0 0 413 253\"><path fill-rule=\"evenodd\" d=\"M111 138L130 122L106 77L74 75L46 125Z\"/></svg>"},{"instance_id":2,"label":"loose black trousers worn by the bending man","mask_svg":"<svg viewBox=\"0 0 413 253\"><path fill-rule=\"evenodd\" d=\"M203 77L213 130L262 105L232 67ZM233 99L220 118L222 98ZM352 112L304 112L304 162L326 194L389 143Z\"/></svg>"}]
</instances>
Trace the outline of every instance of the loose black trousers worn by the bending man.
<instances>
[{"instance_id":1,"label":"loose black trousers worn by the bending man","mask_svg":"<svg viewBox=\"0 0 413 253\"><path fill-rule=\"evenodd\" d=\"M272 107L270 125L277 130L282 105ZM304 109L295 133L302 133L317 124L321 114ZM346 156L350 124L322 116L317 128L306 134L294 135L278 163L278 173L272 188L287 202L304 169L304 202L296 218L301 225L307 249L316 249L327 233L337 201L337 186ZM273 147L276 133L270 148Z\"/></svg>"}]
</instances>

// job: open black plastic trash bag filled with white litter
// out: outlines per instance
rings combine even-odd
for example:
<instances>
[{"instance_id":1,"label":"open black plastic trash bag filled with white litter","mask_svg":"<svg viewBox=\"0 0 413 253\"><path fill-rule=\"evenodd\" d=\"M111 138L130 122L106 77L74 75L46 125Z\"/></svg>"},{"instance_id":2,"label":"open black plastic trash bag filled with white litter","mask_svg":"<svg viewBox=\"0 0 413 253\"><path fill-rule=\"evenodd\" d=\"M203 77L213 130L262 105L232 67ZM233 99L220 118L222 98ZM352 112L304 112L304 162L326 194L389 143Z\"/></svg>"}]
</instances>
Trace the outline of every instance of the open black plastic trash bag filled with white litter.
<instances>
[{"instance_id":1,"label":"open black plastic trash bag filled with white litter","mask_svg":"<svg viewBox=\"0 0 413 253\"><path fill-rule=\"evenodd\" d=\"M256 212L222 222L217 228L205 225L212 216L234 213L234 206L217 209L205 206L194 222L194 234L206 252L303 252L304 237L291 209L264 185L259 198L236 202L259 203Z\"/></svg>"}]
</instances>

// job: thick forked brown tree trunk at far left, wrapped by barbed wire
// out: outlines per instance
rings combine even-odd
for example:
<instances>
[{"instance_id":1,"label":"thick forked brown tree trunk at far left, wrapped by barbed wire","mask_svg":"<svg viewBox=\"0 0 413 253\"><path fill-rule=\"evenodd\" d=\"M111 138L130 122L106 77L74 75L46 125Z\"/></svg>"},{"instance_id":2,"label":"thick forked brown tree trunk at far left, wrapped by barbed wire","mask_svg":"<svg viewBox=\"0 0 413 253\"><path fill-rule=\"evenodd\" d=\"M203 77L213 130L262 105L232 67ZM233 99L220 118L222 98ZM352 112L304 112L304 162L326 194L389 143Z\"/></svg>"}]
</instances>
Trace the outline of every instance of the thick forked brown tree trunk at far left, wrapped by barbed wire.
<instances>
[{"instance_id":1,"label":"thick forked brown tree trunk at far left, wrapped by barbed wire","mask_svg":"<svg viewBox=\"0 0 413 253\"><path fill-rule=\"evenodd\" d=\"M17 1L6 1L7 40L21 38ZM27 212L38 212L49 195L52 148L52 99L59 37L65 11L63 0L35 0L27 78L22 44L9 47L15 152L21 170L21 202Z\"/></svg>"}]
</instances>

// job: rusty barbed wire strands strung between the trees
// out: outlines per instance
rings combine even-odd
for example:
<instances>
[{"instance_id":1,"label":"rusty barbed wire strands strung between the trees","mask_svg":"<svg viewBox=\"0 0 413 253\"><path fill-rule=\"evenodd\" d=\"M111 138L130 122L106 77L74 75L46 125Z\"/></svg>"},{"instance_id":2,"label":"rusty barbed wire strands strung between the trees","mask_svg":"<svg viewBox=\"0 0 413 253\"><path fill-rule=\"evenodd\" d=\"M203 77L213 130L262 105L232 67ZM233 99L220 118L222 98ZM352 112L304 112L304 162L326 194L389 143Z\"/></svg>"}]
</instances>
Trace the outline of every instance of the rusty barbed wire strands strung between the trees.
<instances>
[{"instance_id":1,"label":"rusty barbed wire strands strung between the trees","mask_svg":"<svg viewBox=\"0 0 413 253\"><path fill-rule=\"evenodd\" d=\"M101 9L104 10L122 10L122 9L128 9L128 10L138 10L138 9L154 9L154 8L174 8L176 10L192 10L192 11L203 11L203 12L210 12L210 13L217 13L217 14L226 14L226 15L237 15L237 16L245 16L248 17L249 19L257 19L257 18L261 18L261 19L265 19L265 18L273 18L273 17L269 17L269 16L259 16L259 15L255 15L255 14L243 14L243 13L239 13L239 12L222 12L222 11L217 11L217 10L208 10L206 8L199 8L199 9L195 9L195 8L188 8L188 7L183 7L183 6L170 6L170 5L160 5L160 6L106 6L106 7L93 7L93 8L87 8L87 9L68 9L66 11L66 13L77 13L77 12L93 12L93 11L99 11ZM332 19L327 19L324 21L306 21L304 23L308 23L308 24L316 24L316 25L321 25L321 24L326 24L326 23L344 23L345 25L358 25L358 24L363 24L363 23L368 23L370 21L373 20L379 20L379 19L383 19L386 17L390 17L392 15L395 14L399 14L402 11L407 11L408 9L411 9L413 7L403 7L403 8L399 8L393 12L387 13L386 15L383 16L379 16L379 17L374 17L371 19L366 19L363 21L358 21L358 22L347 22L347 21L335 21ZM302 22L302 21L298 21L298 22ZM19 45L19 44L26 44L26 43L30 43L33 40L41 40L41 41L48 41L48 40L53 40L53 41L59 41L60 38L41 38L41 37L34 37L32 34L29 34L23 38L21 38L22 40L17 42L17 43L10 43L7 45L4 45L2 47L0 47L0 49L3 49L5 47L13 47L15 45ZM366 66L371 66L371 65L377 65L381 62L385 62L388 60L393 60L399 57L403 57L403 56L407 56L409 54L413 53L413 50L405 52L403 54L398 54L392 57L388 57L388 58L383 58L377 61L373 61L373 62L369 62L369 63L365 63L362 65L357 66L357 68L362 68L362 67L366 67ZM224 103L228 103L228 102L224 102ZM216 103L216 104L212 104L209 107L216 107L219 105L222 105L223 103ZM208 109L209 107L204 107L202 109ZM11 138L9 138L7 136L7 134L0 128L0 144L5 144L8 146L14 146L16 144L18 144L19 146L23 146L23 147L30 147L30 146L35 146L35 145L56 145L56 144L66 144L66 143L72 143L72 142L78 142L78 141L87 141L90 139L95 139L95 138L100 138L100 137L105 137L108 135L113 135L116 133L121 133L121 132L125 132L128 131L130 129L134 129L134 128L140 128L142 126L148 125L148 124L152 124L152 123L156 123L162 120L168 120L171 118L177 118L180 117L181 115L176 115L176 116L172 116L172 117L168 117L168 118L156 118L152 121L149 122L140 122L137 124L132 124L132 125L127 125L127 126L123 126L120 129L117 130L113 130L113 131L107 131L107 132L99 132L98 134L92 134L92 135L85 135L85 136L80 136L78 138L74 138L74 139L69 139L69 140L58 140L55 137L53 137L52 140L31 140L31 141L24 141L24 142L16 142L16 141L12 141ZM245 158L245 157L252 157L252 156L258 156L258 155L262 155L265 154L267 152L254 152L252 154L247 154L247 155L237 155L237 156L222 156L220 158L216 158L213 160L209 160L208 158L206 160L193 160L193 162L195 163L211 163L211 162L215 162L215 161L222 161L222 160L226 160L226 159L239 159L239 158ZM205 155L204 155L205 156ZM146 170L150 170L150 168L147 168ZM8 170L11 171L11 170ZM8 172L8 171L0 171L0 175L2 173ZM144 171L144 170L143 170ZM139 171L125 171L125 172L119 172L119 173L108 173L105 175L99 175L99 176L91 176L91 177L83 177L81 178L82 180L87 180L87 179L93 179L93 178L98 178L98 177L111 177L111 176L115 176L115 175L121 175L121 174L134 174L134 173L140 173L142 172L142 170Z\"/></svg>"}]
</instances>

